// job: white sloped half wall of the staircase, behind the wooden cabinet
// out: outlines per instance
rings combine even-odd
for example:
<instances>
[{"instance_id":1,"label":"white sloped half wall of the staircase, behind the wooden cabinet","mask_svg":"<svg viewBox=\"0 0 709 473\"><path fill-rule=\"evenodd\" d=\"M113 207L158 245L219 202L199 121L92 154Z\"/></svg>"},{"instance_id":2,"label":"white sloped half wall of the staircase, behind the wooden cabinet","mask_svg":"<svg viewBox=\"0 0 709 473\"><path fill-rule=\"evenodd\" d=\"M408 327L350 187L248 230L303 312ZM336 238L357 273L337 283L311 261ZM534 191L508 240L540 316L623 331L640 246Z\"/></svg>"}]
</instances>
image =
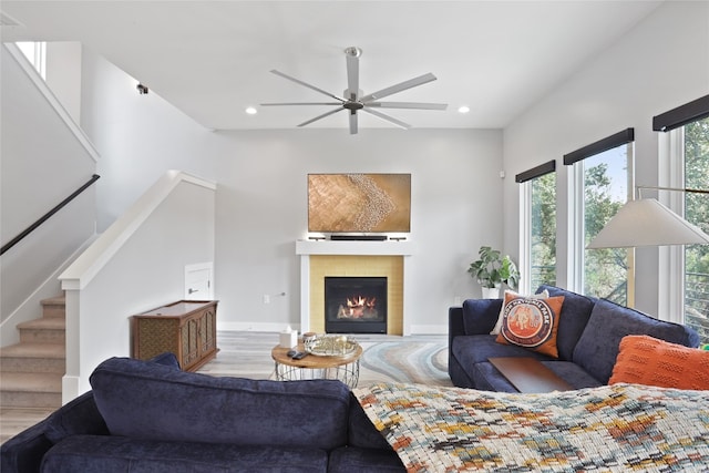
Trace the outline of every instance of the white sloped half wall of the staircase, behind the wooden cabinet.
<instances>
[{"instance_id":1,"label":"white sloped half wall of the staircase, behind the wooden cabinet","mask_svg":"<svg viewBox=\"0 0 709 473\"><path fill-rule=\"evenodd\" d=\"M214 260L214 186L173 174L60 277L66 289L64 402L90 389L89 374L101 361L131 354L131 316L181 300L185 266ZM134 223L141 225L131 232ZM102 264L104 251L114 254Z\"/></svg>"}]
</instances>

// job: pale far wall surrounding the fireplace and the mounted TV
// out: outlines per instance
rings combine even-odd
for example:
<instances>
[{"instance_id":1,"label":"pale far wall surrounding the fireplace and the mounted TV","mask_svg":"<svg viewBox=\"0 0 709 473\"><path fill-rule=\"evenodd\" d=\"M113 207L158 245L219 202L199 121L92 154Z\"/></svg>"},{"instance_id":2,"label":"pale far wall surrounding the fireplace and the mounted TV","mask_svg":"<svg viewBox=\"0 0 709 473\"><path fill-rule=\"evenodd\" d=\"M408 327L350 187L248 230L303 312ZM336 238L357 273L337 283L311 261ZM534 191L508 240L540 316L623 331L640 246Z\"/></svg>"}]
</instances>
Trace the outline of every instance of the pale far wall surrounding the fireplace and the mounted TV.
<instances>
[{"instance_id":1,"label":"pale far wall surrounding the fireplace and the mounted TV","mask_svg":"<svg viewBox=\"0 0 709 473\"><path fill-rule=\"evenodd\" d=\"M480 296L465 273L501 241L500 131L342 130L218 133L216 290L220 320L282 329L299 315L295 240L307 236L308 173L411 173L413 307L445 332L454 298ZM263 304L263 295L286 292Z\"/></svg>"}]
</instances>

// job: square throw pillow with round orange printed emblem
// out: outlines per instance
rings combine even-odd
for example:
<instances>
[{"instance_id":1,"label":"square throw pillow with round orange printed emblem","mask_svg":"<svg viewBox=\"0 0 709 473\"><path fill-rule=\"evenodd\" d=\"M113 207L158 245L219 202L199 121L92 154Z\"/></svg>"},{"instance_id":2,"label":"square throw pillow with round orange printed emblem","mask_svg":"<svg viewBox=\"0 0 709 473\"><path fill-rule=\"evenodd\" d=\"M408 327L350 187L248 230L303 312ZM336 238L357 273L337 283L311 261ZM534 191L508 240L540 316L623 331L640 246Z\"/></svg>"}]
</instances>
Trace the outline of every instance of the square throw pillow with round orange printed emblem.
<instances>
[{"instance_id":1,"label":"square throw pillow with round orange printed emblem","mask_svg":"<svg viewBox=\"0 0 709 473\"><path fill-rule=\"evenodd\" d=\"M496 341L558 358L556 332L563 304L564 296L535 299L506 294Z\"/></svg>"}]
</instances>

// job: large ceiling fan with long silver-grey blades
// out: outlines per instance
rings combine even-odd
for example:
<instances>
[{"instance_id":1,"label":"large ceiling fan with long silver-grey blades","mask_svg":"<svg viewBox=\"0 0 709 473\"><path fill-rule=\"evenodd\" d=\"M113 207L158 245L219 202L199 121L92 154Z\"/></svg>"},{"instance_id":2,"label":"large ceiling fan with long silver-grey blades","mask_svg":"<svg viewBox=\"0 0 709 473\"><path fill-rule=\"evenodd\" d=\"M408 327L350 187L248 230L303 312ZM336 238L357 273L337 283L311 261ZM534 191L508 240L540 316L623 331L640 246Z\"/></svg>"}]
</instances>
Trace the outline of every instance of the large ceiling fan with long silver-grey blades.
<instances>
[{"instance_id":1,"label":"large ceiling fan with long silver-grey blades","mask_svg":"<svg viewBox=\"0 0 709 473\"><path fill-rule=\"evenodd\" d=\"M315 119L310 119L306 122L302 122L298 126L309 125L310 123L317 122L318 120L325 119L326 116L347 110L349 111L350 134L352 135L357 134L357 130L358 130L357 112L369 113L389 123L393 123L394 125L400 126L402 128L410 128L411 127L410 124L404 123L400 120L397 120L393 116L381 113L378 109L445 110L448 107L448 104L445 103L380 102L379 101L380 99L405 91L407 89L412 89L418 85L423 85L428 82L435 81L435 75L433 75L430 72L428 74L419 75L418 78L413 78L408 81L400 82L398 84L382 89L378 92L363 95L362 91L359 89L359 58L360 55L362 55L362 50L356 47L350 47L345 50L345 55L347 58L347 89L343 92L343 95L345 95L343 97L331 94L330 92L323 91L322 89L319 89L307 82L292 78L288 74L284 74L282 72L276 71L275 69L270 71L276 75L279 75L284 79L288 79L289 81L304 85L308 89L312 89L316 92L319 92L331 99L335 99L337 102L285 102L285 103L261 103L261 105L264 106L337 105L336 109L329 112L326 112L321 115L318 115Z\"/></svg>"}]
</instances>

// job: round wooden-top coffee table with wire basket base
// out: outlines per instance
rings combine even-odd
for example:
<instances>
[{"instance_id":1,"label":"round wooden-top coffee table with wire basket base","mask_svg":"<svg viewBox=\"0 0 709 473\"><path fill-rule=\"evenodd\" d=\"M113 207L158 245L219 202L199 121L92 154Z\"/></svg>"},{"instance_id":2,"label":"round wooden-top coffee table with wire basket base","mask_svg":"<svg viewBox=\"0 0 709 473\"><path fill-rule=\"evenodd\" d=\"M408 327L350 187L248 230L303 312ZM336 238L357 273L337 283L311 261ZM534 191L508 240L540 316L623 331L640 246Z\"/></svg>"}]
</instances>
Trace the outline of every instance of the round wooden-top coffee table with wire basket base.
<instances>
[{"instance_id":1,"label":"round wooden-top coffee table with wire basket base","mask_svg":"<svg viewBox=\"0 0 709 473\"><path fill-rule=\"evenodd\" d=\"M276 362L276 379L279 381L295 381L304 379L338 379L350 388L357 388L359 381L359 358L362 356L362 347L343 357L320 357L309 353L300 360L288 357L290 348L280 345L274 347L270 356ZM298 351L305 351L305 347L298 343Z\"/></svg>"}]
</instances>

